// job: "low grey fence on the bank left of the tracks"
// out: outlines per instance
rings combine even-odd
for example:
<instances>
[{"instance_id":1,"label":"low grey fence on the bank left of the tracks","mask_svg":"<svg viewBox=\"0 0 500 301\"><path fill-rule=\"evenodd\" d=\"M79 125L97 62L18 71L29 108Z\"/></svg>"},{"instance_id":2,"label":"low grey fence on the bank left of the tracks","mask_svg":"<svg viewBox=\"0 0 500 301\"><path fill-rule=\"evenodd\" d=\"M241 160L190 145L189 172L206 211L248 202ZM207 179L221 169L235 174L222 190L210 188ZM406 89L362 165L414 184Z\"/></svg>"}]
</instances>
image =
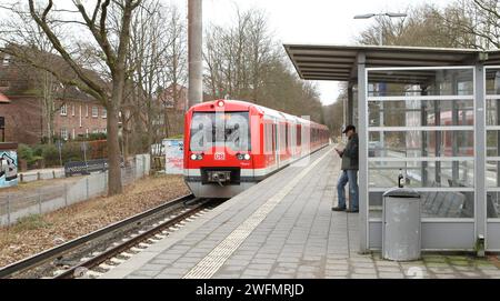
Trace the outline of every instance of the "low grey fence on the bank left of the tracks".
<instances>
[{"instance_id":1,"label":"low grey fence on the bank left of the tracks","mask_svg":"<svg viewBox=\"0 0 500 301\"><path fill-rule=\"evenodd\" d=\"M149 154L138 154L121 169L123 184L146 177L150 171ZM12 224L30 214L41 214L88 199L104 195L108 190L108 172L98 172L73 182L49 184L32 191L0 194L0 225Z\"/></svg>"}]
</instances>

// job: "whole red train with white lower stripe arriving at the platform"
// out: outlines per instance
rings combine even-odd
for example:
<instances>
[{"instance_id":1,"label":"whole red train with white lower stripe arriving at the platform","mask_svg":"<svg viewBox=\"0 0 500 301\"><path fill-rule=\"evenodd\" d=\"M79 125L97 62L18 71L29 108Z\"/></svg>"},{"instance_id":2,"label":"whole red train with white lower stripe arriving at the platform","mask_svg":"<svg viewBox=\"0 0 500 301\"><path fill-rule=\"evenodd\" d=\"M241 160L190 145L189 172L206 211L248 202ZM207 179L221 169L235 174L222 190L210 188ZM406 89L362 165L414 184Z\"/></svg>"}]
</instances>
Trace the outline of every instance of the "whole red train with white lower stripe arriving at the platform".
<instances>
[{"instance_id":1,"label":"whole red train with white lower stripe arriving at the platform","mask_svg":"<svg viewBox=\"0 0 500 301\"><path fill-rule=\"evenodd\" d=\"M232 198L329 143L329 131L244 101L193 106L184 119L184 180L196 197Z\"/></svg>"}]
</instances>

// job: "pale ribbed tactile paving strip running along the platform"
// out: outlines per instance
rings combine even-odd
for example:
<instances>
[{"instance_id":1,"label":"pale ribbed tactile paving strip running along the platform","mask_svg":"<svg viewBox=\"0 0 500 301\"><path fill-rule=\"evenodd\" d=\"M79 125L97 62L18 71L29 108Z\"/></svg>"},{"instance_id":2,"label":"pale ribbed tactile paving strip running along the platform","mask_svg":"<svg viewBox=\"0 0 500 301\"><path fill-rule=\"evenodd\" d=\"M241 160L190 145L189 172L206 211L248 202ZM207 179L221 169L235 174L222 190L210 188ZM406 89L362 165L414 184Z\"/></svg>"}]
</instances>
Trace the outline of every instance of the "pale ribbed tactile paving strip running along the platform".
<instances>
[{"instance_id":1,"label":"pale ribbed tactile paving strip running along the platform","mask_svg":"<svg viewBox=\"0 0 500 301\"><path fill-rule=\"evenodd\" d=\"M330 149L308 168L302 170L293 180L284 185L278 193L272 195L244 222L221 241L207 257L194 265L183 278L184 279L209 279L222 267L240 244L250 233L266 219L269 212L281 202L284 197L304 178L319 162L321 162L332 150Z\"/></svg>"}]
</instances>

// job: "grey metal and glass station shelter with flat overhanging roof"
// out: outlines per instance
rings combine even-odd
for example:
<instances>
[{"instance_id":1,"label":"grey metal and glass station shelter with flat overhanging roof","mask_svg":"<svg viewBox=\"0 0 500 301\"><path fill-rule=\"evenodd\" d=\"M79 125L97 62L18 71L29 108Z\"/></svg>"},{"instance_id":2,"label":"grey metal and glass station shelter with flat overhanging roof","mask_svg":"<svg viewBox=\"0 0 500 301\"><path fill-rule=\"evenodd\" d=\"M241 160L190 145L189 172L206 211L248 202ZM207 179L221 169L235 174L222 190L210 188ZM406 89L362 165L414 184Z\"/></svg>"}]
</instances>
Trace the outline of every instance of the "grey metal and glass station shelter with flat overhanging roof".
<instances>
[{"instance_id":1,"label":"grey metal and glass station shelter with flat overhanging roof","mask_svg":"<svg viewBox=\"0 0 500 301\"><path fill-rule=\"evenodd\" d=\"M284 48L301 79L347 83L361 252L381 248L382 194L400 173L421 195L422 250L500 251L500 51Z\"/></svg>"}]
</instances>

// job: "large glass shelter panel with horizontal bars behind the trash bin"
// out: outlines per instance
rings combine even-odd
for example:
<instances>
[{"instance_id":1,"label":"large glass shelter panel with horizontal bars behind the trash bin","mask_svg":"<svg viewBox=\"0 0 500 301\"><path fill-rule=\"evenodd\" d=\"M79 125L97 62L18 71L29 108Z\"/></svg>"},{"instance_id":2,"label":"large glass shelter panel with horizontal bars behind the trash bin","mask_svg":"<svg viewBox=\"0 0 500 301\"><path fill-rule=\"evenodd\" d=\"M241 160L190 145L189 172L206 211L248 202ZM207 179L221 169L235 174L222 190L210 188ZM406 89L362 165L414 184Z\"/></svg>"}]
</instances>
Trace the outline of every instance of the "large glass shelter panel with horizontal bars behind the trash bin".
<instances>
[{"instance_id":1,"label":"large glass shelter panel with horizontal bars behind the trash bin","mask_svg":"<svg viewBox=\"0 0 500 301\"><path fill-rule=\"evenodd\" d=\"M367 72L369 218L381 218L382 194L402 174L421 195L423 218L472 219L473 68Z\"/></svg>"}]
</instances>

